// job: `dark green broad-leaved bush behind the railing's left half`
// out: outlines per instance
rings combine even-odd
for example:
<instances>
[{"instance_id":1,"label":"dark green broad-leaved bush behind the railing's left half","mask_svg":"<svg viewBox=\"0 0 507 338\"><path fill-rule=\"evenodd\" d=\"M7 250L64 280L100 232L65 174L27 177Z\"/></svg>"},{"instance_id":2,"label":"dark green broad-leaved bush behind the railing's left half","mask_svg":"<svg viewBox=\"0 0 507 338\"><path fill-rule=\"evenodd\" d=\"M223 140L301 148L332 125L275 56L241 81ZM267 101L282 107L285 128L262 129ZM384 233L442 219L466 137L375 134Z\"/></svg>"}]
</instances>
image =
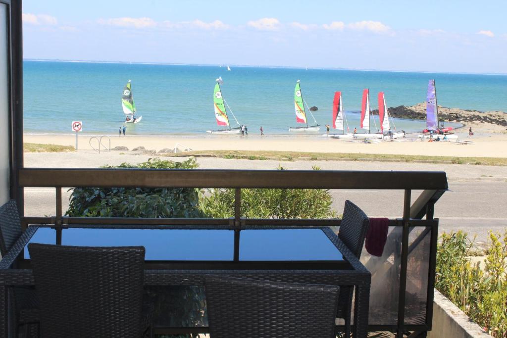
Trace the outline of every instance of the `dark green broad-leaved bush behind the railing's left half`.
<instances>
[{"instance_id":1,"label":"dark green broad-leaved bush behind the railing's left half","mask_svg":"<svg viewBox=\"0 0 507 338\"><path fill-rule=\"evenodd\" d=\"M103 168L194 169L194 158L183 162L158 158L136 165ZM200 217L199 190L192 188L73 188L68 216L84 217Z\"/></svg>"}]
</instances>

